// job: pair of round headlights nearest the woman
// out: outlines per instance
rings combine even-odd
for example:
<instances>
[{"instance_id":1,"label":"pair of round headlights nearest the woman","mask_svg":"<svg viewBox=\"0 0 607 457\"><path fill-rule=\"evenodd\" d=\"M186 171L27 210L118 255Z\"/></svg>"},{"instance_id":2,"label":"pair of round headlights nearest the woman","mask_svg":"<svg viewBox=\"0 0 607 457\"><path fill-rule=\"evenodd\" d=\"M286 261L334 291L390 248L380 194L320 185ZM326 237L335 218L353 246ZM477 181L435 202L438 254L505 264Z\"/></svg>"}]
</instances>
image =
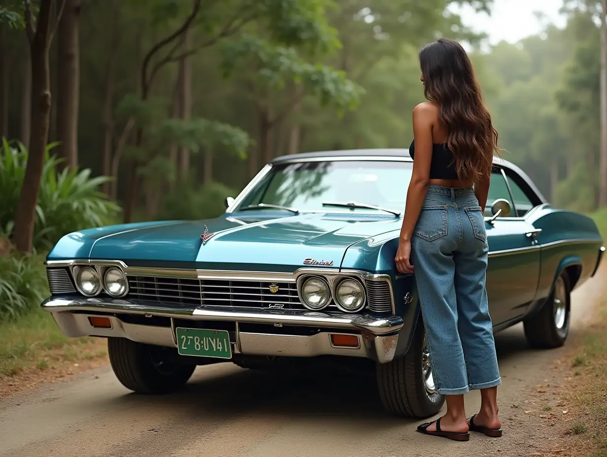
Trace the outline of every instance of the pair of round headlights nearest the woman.
<instances>
[{"instance_id":1,"label":"pair of round headlights nearest the woman","mask_svg":"<svg viewBox=\"0 0 607 457\"><path fill-rule=\"evenodd\" d=\"M355 313L365 305L365 289L356 279L337 280L334 287L335 304L342 311ZM317 276L304 279L300 289L304 305L311 310L322 310L331 302L329 283Z\"/></svg>"}]
</instances>

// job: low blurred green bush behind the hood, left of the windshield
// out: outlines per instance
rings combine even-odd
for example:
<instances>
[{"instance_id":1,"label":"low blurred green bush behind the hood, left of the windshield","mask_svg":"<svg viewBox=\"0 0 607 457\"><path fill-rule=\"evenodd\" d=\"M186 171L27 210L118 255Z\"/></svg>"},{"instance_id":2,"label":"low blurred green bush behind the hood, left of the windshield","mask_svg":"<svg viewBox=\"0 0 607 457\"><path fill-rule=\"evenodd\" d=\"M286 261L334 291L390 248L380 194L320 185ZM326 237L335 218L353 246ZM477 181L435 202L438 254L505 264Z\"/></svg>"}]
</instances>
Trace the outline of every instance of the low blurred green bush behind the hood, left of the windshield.
<instances>
[{"instance_id":1,"label":"low blurred green bush behind the hood, left of the windshield","mask_svg":"<svg viewBox=\"0 0 607 457\"><path fill-rule=\"evenodd\" d=\"M193 184L191 180L180 183L174 192L166 194L163 210L158 220L198 220L217 217L225 212L227 197L235 197L234 189L222 183Z\"/></svg>"}]
</instances>

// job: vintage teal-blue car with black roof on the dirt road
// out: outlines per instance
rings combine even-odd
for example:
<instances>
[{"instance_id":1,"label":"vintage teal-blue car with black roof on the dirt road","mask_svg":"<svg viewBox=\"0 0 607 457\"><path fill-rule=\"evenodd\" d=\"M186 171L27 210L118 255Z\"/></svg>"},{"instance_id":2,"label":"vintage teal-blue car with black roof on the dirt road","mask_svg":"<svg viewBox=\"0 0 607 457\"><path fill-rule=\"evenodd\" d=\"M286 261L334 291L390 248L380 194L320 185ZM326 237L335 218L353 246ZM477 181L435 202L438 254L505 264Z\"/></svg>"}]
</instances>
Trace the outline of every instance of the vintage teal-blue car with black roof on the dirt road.
<instances>
[{"instance_id":1,"label":"vintage teal-blue car with black roof on the dirt road","mask_svg":"<svg viewBox=\"0 0 607 457\"><path fill-rule=\"evenodd\" d=\"M517 166L494 165L485 209L494 329L522 321L532 347L558 347L570 293L597 271L602 237L591 218L549 205ZM180 388L197 365L314 357L373 370L388 411L432 416L444 398L415 276L394 262L412 167L406 149L289 155L218 218L68 234L47 257L42 308L67 336L106 337L116 376L140 393Z\"/></svg>"}]
</instances>

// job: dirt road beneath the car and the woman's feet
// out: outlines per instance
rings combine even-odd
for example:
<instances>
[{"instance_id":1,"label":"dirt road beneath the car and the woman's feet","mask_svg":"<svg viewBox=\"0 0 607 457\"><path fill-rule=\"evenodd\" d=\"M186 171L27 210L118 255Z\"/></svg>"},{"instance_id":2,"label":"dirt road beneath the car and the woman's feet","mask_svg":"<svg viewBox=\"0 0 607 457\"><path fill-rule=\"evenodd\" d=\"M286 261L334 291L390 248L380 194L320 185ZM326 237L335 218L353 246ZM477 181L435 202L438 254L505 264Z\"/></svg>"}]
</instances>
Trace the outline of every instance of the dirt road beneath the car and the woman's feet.
<instances>
[{"instance_id":1,"label":"dirt road beneath the car and the woman's feet","mask_svg":"<svg viewBox=\"0 0 607 457\"><path fill-rule=\"evenodd\" d=\"M605 289L606 269L575 291L572 336ZM529 350L521 325L496 340L501 439L473 434L456 443L416 433L419 421L384 413L373 379L350 374L280 376L218 364L198 368L183 392L151 398L130 393L107 367L0 402L0 456L531 456L559 440L550 421L538 426L524 410L534 386L558 390L548 367L563 349ZM479 404L468 394L470 414Z\"/></svg>"}]
</instances>

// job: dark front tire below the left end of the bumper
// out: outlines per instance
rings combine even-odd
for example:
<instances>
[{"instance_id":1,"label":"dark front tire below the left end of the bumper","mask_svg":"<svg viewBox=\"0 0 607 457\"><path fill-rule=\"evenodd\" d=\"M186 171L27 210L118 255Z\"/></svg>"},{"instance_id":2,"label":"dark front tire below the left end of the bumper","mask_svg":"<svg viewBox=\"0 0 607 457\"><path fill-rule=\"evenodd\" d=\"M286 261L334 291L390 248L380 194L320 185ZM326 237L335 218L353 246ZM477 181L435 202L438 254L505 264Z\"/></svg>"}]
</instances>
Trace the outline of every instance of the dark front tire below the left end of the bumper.
<instances>
[{"instance_id":1,"label":"dark front tire below the left end of the bumper","mask_svg":"<svg viewBox=\"0 0 607 457\"><path fill-rule=\"evenodd\" d=\"M137 393L171 393L188 382L196 366L179 363L171 351L126 338L107 339L114 374L124 387Z\"/></svg>"}]
</instances>

